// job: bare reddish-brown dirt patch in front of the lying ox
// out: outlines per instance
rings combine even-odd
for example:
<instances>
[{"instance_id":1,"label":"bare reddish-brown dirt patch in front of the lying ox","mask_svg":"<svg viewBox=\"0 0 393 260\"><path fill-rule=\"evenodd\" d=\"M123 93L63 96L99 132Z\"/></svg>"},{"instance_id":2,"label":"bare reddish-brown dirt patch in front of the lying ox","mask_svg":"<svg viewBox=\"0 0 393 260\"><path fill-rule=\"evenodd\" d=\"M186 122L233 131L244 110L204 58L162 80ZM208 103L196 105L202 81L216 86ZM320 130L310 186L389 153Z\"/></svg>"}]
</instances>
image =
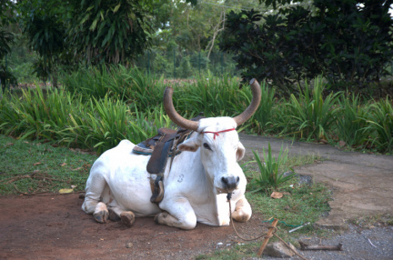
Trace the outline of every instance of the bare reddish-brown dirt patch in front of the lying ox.
<instances>
[{"instance_id":1,"label":"bare reddish-brown dirt patch in front of the lying ox","mask_svg":"<svg viewBox=\"0 0 393 260\"><path fill-rule=\"evenodd\" d=\"M153 217L136 218L131 228L101 225L82 203L79 195L0 197L0 259L194 259L242 243L231 226L197 224L184 231L157 225ZM250 235L258 226L266 230L258 215L237 223Z\"/></svg>"}]
</instances>

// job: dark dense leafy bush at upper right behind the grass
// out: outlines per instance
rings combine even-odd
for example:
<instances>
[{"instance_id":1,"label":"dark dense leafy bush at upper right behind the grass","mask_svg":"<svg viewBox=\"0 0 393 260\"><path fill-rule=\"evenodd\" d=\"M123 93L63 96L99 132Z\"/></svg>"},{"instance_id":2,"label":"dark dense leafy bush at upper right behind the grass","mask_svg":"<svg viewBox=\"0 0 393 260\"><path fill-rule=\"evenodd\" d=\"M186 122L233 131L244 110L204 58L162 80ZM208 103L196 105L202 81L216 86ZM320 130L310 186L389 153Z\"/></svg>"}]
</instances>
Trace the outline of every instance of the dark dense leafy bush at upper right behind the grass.
<instances>
[{"instance_id":1,"label":"dark dense leafy bush at upper right behind the grass","mask_svg":"<svg viewBox=\"0 0 393 260\"><path fill-rule=\"evenodd\" d=\"M272 2L272 1L270 1ZM314 0L276 14L231 12L222 50L236 54L247 79L271 80L284 91L324 75L333 89L362 88L388 75L393 58L392 1Z\"/></svg>"}]
</instances>

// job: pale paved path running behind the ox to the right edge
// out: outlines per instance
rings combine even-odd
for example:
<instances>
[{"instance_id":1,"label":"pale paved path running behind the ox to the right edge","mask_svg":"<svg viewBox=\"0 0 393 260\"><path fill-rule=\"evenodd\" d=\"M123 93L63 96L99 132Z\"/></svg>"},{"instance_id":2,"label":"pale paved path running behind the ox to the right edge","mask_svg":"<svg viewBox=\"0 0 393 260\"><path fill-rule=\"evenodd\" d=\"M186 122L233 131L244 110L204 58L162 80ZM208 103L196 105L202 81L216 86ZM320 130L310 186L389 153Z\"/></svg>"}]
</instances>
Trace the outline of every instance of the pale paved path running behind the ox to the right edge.
<instances>
[{"instance_id":1,"label":"pale paved path running behind the ox to the right edge","mask_svg":"<svg viewBox=\"0 0 393 260\"><path fill-rule=\"evenodd\" d=\"M343 228L345 221L365 215L393 215L393 156L368 155L345 152L329 145L256 135L240 135L246 147L246 157L252 158L252 150L262 156L262 148L270 143L273 153L281 146L288 148L289 155L320 155L323 162L296 169L298 174L311 175L315 182L333 187L333 201L328 217L317 222L329 228ZM393 246L393 245L392 245Z\"/></svg>"}]
</instances>

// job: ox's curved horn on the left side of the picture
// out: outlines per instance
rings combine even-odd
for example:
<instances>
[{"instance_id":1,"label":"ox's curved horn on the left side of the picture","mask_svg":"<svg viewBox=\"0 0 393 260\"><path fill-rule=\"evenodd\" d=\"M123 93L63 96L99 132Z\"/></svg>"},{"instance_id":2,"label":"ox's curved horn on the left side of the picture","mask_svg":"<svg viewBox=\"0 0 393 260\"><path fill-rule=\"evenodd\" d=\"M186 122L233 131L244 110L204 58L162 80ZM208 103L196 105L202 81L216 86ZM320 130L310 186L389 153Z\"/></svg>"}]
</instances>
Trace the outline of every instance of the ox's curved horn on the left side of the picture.
<instances>
[{"instance_id":1,"label":"ox's curved horn on the left side of the picture","mask_svg":"<svg viewBox=\"0 0 393 260\"><path fill-rule=\"evenodd\" d=\"M164 109L169 118L178 126L197 131L199 123L196 121L188 120L181 115L178 115L172 100L173 88L166 87L164 91Z\"/></svg>"}]
</instances>

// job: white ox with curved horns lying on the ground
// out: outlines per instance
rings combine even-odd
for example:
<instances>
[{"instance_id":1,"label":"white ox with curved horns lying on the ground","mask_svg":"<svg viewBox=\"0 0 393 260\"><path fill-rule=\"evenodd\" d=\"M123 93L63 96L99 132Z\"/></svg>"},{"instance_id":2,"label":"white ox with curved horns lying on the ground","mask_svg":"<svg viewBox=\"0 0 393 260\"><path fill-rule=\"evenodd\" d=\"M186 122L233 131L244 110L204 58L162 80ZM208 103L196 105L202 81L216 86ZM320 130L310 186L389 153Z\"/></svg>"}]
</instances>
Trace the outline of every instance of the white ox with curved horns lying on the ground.
<instances>
[{"instance_id":1,"label":"white ox with curved horns lying on the ground","mask_svg":"<svg viewBox=\"0 0 393 260\"><path fill-rule=\"evenodd\" d=\"M96 221L121 220L132 225L135 216L156 215L162 225L193 229L196 222L207 225L229 225L227 194L232 193L232 218L246 222L252 214L245 197L247 180L237 161L245 154L237 131L257 110L260 85L250 82L253 91L251 105L241 114L231 117L211 117L194 122L176 113L172 103L172 88L166 88L164 105L167 115L176 125L195 132L183 144L172 165L164 172L165 195L158 204L150 202L151 176L146 171L148 155L132 153L134 144L123 140L101 155L90 171L86 183L87 214Z\"/></svg>"}]
</instances>

